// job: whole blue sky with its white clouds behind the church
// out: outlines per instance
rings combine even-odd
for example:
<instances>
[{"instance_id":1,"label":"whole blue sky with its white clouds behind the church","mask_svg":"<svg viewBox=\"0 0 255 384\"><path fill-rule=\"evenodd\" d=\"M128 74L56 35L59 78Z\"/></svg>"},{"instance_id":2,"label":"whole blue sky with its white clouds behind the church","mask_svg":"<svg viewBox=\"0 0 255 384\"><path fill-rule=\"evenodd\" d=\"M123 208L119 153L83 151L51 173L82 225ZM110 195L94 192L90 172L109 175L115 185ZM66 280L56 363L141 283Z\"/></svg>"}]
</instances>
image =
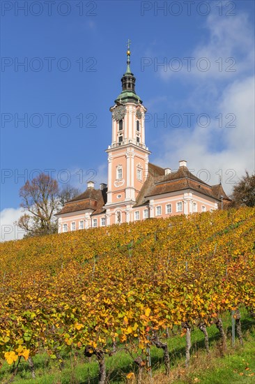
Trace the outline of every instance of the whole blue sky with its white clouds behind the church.
<instances>
[{"instance_id":1,"label":"whole blue sky with its white clouds behind the church","mask_svg":"<svg viewBox=\"0 0 255 384\"><path fill-rule=\"evenodd\" d=\"M127 38L150 161L227 192L254 171L254 1L1 1L2 226L37 170L106 182Z\"/></svg>"}]
</instances>

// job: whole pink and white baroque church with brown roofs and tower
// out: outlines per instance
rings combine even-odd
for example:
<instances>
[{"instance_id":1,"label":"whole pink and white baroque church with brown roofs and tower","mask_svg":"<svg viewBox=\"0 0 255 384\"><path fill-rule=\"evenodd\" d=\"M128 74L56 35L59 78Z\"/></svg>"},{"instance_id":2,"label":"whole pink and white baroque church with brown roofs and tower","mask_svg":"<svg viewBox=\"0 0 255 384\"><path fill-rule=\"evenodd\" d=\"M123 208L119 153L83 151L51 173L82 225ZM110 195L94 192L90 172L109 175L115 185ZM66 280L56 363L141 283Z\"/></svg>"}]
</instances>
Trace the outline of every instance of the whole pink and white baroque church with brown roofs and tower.
<instances>
[{"instance_id":1,"label":"whole pink and white baroque church with brown roofs and tower","mask_svg":"<svg viewBox=\"0 0 255 384\"><path fill-rule=\"evenodd\" d=\"M59 232L212 211L230 200L222 184L210 186L192 175L185 160L179 161L174 171L149 163L144 124L147 110L136 94L135 80L128 45L122 91L110 108L108 184L95 189L94 182L88 182L84 193L66 202L56 214Z\"/></svg>"}]
</instances>

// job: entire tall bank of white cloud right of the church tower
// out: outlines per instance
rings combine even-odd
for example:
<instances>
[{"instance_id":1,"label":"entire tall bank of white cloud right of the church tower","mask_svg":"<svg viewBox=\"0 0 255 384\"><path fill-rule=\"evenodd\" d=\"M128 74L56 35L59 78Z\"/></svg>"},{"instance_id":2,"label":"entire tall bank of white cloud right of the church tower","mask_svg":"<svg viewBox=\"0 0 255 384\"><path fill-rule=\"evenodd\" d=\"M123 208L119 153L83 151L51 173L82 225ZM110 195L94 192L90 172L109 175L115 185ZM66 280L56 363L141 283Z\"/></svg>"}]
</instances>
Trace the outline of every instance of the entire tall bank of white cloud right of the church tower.
<instances>
[{"instance_id":1,"label":"entire tall bank of white cloud right of the church tower","mask_svg":"<svg viewBox=\"0 0 255 384\"><path fill-rule=\"evenodd\" d=\"M209 34L203 35L203 43L194 47L192 56L208 57L211 63L219 57L234 57L236 71L220 72L217 64L206 73L191 71L185 75L180 71L177 74L180 81L192 82L192 90L181 105L179 103L179 108L185 105L188 112L209 114L210 125L205 128L194 120L190 128L171 128L158 138L158 142L164 143L164 151L153 162L174 169L178 168L178 160L185 158L193 173L208 184L216 184L222 176L224 189L230 193L245 170L254 172L255 168L254 34L245 14L235 17L210 14L206 28ZM224 61L222 64L226 68ZM160 73L164 80L171 75ZM171 110L171 105L167 105L167 109ZM222 126L216 119L219 114ZM233 127L230 127L232 118ZM208 171L199 173L202 169Z\"/></svg>"}]
</instances>

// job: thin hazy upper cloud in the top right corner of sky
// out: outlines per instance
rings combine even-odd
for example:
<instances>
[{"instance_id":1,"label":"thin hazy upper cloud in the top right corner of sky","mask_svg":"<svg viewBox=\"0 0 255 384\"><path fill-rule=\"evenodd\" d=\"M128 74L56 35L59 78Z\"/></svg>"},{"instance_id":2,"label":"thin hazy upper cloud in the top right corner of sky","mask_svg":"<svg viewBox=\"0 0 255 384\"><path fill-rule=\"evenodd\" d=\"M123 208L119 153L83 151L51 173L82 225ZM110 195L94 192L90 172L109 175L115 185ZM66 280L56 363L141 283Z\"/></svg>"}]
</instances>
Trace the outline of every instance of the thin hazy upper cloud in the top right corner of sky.
<instances>
[{"instance_id":1,"label":"thin hazy upper cloud in the top right corner of sky","mask_svg":"<svg viewBox=\"0 0 255 384\"><path fill-rule=\"evenodd\" d=\"M171 77L180 77L184 81L198 78L206 81L215 78L233 80L241 73L253 71L254 30L247 14L219 17L212 12L206 19L204 30L206 33L202 30L201 43L190 54L186 52L179 58L180 66L178 61L169 59L167 71L159 67L158 74L162 80ZM180 71L176 71L179 67Z\"/></svg>"}]
</instances>

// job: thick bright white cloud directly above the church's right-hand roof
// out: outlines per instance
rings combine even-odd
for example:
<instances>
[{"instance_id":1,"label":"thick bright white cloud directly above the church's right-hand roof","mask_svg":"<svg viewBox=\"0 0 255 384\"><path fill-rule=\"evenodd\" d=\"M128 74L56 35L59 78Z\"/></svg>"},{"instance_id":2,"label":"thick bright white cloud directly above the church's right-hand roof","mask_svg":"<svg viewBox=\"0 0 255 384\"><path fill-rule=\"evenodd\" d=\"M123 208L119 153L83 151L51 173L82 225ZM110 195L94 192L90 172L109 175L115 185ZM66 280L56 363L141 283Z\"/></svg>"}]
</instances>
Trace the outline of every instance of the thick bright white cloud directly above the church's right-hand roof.
<instances>
[{"instance_id":1,"label":"thick bright white cloud directly above the church's right-hand roof","mask_svg":"<svg viewBox=\"0 0 255 384\"><path fill-rule=\"evenodd\" d=\"M177 161L185 158L193 173L209 184L219 182L222 175L224 189L230 193L245 170L254 172L254 77L236 80L215 103L223 117L229 112L236 116L235 127L226 128L224 124L220 128L218 121L214 121L207 128L196 125L193 130L173 130L160 138L164 142L164 155L157 157L155 163L177 168ZM173 150L168 152L167 148ZM202 169L208 172L199 173Z\"/></svg>"}]
</instances>

